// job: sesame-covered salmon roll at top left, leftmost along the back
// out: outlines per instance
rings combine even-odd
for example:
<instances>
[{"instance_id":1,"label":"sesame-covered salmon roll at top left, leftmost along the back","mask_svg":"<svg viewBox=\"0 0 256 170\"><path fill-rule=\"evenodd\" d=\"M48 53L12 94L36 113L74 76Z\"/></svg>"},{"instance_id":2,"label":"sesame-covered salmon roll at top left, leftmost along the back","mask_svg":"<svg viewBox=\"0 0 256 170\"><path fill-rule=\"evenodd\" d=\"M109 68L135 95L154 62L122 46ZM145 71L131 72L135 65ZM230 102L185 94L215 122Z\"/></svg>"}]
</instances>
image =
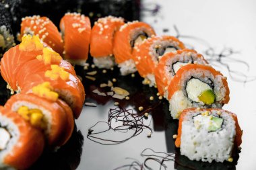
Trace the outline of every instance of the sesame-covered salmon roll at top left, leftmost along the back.
<instances>
[{"instance_id":1,"label":"sesame-covered salmon roll at top left, leftmost along the back","mask_svg":"<svg viewBox=\"0 0 256 170\"><path fill-rule=\"evenodd\" d=\"M22 37L25 34L36 35L48 46L51 46L53 50L59 54L63 53L64 44L61 34L48 17L34 15L22 18L20 36Z\"/></svg>"}]
</instances>

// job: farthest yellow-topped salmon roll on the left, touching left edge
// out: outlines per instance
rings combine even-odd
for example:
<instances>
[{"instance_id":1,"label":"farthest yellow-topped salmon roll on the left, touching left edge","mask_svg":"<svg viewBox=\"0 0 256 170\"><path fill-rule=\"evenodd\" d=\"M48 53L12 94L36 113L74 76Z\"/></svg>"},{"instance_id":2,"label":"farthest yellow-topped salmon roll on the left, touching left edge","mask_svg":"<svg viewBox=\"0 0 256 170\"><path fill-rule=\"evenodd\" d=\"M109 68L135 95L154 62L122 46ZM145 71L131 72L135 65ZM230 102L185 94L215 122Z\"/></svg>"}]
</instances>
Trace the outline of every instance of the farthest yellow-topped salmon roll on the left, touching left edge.
<instances>
[{"instance_id":1,"label":"farthest yellow-topped salmon roll on the left, touching left edge","mask_svg":"<svg viewBox=\"0 0 256 170\"><path fill-rule=\"evenodd\" d=\"M1 75L11 91L17 91L17 74L29 60L42 55L43 44L38 36L24 36L22 43L10 48L1 58Z\"/></svg>"}]
</instances>

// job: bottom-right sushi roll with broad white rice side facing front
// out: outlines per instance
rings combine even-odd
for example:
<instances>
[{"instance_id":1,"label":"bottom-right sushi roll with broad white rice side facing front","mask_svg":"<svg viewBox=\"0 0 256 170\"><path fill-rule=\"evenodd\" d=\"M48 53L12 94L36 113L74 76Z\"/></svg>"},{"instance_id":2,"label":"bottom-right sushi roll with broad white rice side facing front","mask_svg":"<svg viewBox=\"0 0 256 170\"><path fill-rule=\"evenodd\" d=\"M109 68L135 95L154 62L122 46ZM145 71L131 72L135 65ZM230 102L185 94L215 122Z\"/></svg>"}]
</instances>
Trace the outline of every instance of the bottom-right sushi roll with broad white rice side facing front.
<instances>
[{"instance_id":1,"label":"bottom-right sushi roll with broad white rice side facing front","mask_svg":"<svg viewBox=\"0 0 256 170\"><path fill-rule=\"evenodd\" d=\"M240 146L242 134L235 114L191 108L181 114L175 145L190 160L232 162L232 149Z\"/></svg>"}]
</instances>

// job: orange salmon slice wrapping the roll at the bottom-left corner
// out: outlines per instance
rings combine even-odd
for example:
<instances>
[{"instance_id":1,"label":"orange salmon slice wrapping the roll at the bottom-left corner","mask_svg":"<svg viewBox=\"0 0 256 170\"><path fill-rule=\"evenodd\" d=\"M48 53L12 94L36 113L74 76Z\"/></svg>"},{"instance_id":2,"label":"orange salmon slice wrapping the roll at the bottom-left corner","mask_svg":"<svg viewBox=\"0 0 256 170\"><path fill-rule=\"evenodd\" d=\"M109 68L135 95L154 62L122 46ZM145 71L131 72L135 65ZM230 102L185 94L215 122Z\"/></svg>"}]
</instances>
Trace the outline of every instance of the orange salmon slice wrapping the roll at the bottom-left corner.
<instances>
[{"instance_id":1,"label":"orange salmon slice wrapping the roll at the bottom-left corner","mask_svg":"<svg viewBox=\"0 0 256 170\"><path fill-rule=\"evenodd\" d=\"M15 169L27 169L42 154L44 149L44 136L42 132L34 128L22 116L11 112L6 108L0 110L0 117L12 122L18 128L18 139L12 143L12 147L2 158L3 164ZM15 136L11 136L13 138ZM35 149L36 148L36 149Z\"/></svg>"}]
</instances>

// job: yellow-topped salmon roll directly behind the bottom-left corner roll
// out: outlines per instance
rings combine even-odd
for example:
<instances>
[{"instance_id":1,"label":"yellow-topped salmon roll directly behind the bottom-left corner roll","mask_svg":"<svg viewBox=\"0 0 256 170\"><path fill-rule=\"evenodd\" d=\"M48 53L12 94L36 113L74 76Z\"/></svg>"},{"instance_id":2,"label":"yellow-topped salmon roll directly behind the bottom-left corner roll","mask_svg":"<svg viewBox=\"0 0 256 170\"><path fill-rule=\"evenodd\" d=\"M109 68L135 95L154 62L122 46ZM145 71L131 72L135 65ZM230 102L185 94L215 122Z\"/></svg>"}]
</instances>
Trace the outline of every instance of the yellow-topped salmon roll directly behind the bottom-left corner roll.
<instances>
[{"instance_id":1,"label":"yellow-topped salmon roll directly behind the bottom-left corner roll","mask_svg":"<svg viewBox=\"0 0 256 170\"><path fill-rule=\"evenodd\" d=\"M50 148L62 146L67 141L64 136L69 136L66 133L70 132L66 131L66 126L73 122L73 119L69 120L70 113L67 113L63 103L60 105L57 101L59 99L53 97L54 93L44 93L52 99L40 97L34 93L15 94L5 104L5 108L19 114L32 126L40 128ZM73 130L73 127L69 130Z\"/></svg>"}]
</instances>

